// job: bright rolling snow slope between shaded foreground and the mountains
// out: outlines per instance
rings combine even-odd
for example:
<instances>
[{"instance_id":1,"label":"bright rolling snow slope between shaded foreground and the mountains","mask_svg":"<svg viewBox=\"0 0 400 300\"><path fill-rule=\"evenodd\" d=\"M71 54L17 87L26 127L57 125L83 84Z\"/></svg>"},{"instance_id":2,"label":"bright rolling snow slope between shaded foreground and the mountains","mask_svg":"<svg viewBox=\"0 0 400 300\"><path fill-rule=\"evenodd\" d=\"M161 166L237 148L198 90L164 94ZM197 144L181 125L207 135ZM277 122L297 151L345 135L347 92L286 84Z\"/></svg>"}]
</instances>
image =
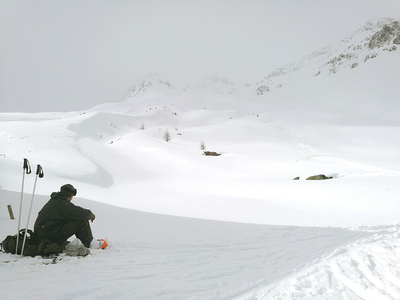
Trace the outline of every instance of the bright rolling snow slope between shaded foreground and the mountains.
<instances>
[{"instance_id":1,"label":"bright rolling snow slope between shaded foreground and the mountains","mask_svg":"<svg viewBox=\"0 0 400 300\"><path fill-rule=\"evenodd\" d=\"M269 113L172 115L166 109L3 122L6 157L0 163L9 172L2 188L20 190L19 170L27 157L46 174L38 194L57 190L61 180L79 187L80 196L126 208L262 224L350 226L398 217L399 144L390 138L399 135L398 127L302 124L304 137ZM145 130L139 129L142 122ZM162 140L166 128L169 143ZM378 138L382 144L370 147ZM201 155L200 140L223 155ZM315 174L334 180L290 180Z\"/></svg>"}]
</instances>

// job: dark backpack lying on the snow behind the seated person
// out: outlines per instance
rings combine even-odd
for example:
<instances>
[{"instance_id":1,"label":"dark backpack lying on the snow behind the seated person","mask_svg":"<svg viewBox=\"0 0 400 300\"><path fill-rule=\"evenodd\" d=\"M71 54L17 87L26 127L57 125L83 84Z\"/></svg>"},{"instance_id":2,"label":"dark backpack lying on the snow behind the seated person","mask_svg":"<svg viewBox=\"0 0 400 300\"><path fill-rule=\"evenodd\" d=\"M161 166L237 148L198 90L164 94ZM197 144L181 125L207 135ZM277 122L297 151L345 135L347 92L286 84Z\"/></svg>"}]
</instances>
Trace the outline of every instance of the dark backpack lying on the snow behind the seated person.
<instances>
[{"instance_id":1,"label":"dark backpack lying on the snow behind the seated person","mask_svg":"<svg viewBox=\"0 0 400 300\"><path fill-rule=\"evenodd\" d=\"M59 254L64 251L64 244L56 243L50 240L38 241L34 232L30 229L21 229L18 238L18 254L21 254L22 244L24 243L24 235L26 230L26 240L23 256L49 256ZM17 247L17 235L7 236L0 244L3 252L15 254Z\"/></svg>"}]
</instances>

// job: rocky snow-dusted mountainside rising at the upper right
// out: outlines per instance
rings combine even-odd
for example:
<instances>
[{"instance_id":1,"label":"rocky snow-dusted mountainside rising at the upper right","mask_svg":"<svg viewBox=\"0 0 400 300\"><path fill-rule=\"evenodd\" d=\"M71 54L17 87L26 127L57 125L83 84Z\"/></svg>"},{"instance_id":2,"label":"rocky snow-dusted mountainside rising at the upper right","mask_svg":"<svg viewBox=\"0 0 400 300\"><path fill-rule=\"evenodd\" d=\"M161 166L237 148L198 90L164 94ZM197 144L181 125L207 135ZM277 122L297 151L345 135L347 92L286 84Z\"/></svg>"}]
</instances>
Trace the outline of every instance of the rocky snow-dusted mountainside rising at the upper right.
<instances>
[{"instance_id":1,"label":"rocky snow-dusted mountainside rising at the upper right","mask_svg":"<svg viewBox=\"0 0 400 300\"><path fill-rule=\"evenodd\" d=\"M288 64L268 74L259 83L271 90L281 88L290 80L296 80L296 73L307 68L307 76L336 74L345 68L356 68L378 55L390 56L400 44L398 20L382 18L370 20L364 26L337 44L324 47L303 57L300 62ZM396 54L398 55L398 54ZM301 74L304 76L305 74ZM258 83L257 83L258 84Z\"/></svg>"}]
</instances>

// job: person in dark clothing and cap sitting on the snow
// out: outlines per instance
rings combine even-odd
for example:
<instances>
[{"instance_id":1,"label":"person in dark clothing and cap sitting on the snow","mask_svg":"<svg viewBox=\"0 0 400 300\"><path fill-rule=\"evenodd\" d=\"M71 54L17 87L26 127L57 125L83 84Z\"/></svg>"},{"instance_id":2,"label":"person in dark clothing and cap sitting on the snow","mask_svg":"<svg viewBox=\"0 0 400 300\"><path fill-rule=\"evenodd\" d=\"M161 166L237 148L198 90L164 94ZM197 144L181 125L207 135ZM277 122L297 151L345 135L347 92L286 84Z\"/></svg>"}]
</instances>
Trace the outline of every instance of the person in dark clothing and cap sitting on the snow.
<instances>
[{"instance_id":1,"label":"person in dark clothing and cap sitting on the snow","mask_svg":"<svg viewBox=\"0 0 400 300\"><path fill-rule=\"evenodd\" d=\"M68 250L72 251L74 256L90 253L86 249L90 247L90 242L93 240L89 220L93 222L96 218L90 210L71 203L75 195L76 189L71 184L64 184L60 188L60 192L53 192L50 200L38 213L34 225L34 232L38 240L51 240L64 244L66 246L64 252L68 254ZM67 245L67 239L74 234L86 247L85 249L76 243Z\"/></svg>"}]
</instances>

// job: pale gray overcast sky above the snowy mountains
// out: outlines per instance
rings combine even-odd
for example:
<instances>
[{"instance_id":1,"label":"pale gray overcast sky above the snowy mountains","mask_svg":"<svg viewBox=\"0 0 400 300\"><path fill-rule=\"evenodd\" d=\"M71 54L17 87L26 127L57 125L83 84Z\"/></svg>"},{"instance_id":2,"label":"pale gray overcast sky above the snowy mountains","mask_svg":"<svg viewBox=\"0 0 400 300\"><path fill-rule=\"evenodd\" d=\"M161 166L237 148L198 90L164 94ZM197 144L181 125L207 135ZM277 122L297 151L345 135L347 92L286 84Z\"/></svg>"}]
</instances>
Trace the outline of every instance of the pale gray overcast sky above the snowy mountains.
<instances>
[{"instance_id":1,"label":"pale gray overcast sky above the snowy mountains","mask_svg":"<svg viewBox=\"0 0 400 300\"><path fill-rule=\"evenodd\" d=\"M0 0L0 112L118 101L156 72L254 83L338 42L398 0Z\"/></svg>"}]
</instances>

